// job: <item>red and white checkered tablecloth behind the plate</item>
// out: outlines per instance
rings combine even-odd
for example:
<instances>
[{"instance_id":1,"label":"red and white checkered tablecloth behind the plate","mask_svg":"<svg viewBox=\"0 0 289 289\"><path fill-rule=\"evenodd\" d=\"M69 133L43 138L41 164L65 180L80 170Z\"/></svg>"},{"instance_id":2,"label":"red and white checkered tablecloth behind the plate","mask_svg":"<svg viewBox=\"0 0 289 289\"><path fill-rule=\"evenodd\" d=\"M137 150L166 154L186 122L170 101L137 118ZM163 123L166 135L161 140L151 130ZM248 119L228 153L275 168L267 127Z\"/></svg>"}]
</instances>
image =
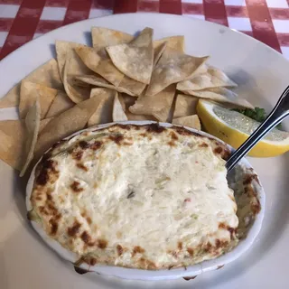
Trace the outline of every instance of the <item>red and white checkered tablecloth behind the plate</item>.
<instances>
[{"instance_id":1,"label":"red and white checkered tablecloth behind the plate","mask_svg":"<svg viewBox=\"0 0 289 289\"><path fill-rule=\"evenodd\" d=\"M0 0L0 60L62 25L137 12L182 14L220 23L289 59L289 0Z\"/></svg>"}]
</instances>

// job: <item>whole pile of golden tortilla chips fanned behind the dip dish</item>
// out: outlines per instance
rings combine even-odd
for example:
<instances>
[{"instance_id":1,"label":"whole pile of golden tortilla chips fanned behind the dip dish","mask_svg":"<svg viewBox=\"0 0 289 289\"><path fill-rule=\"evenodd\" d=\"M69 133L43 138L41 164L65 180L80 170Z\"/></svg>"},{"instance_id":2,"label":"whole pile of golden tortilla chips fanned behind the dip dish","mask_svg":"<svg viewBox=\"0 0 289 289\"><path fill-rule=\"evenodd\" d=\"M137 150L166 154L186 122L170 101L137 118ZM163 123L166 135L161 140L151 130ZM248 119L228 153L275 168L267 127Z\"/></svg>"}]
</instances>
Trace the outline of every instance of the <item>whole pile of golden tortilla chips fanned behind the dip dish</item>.
<instances>
[{"instance_id":1,"label":"whole pile of golden tortilla chips fanned behind the dip dish","mask_svg":"<svg viewBox=\"0 0 289 289\"><path fill-rule=\"evenodd\" d=\"M252 107L208 56L184 52L183 36L154 41L153 33L93 27L93 47L55 42L57 60L0 99L0 108L17 106L20 117L0 121L0 158L24 175L52 144L88 126L155 120L200 129L199 98Z\"/></svg>"}]
</instances>

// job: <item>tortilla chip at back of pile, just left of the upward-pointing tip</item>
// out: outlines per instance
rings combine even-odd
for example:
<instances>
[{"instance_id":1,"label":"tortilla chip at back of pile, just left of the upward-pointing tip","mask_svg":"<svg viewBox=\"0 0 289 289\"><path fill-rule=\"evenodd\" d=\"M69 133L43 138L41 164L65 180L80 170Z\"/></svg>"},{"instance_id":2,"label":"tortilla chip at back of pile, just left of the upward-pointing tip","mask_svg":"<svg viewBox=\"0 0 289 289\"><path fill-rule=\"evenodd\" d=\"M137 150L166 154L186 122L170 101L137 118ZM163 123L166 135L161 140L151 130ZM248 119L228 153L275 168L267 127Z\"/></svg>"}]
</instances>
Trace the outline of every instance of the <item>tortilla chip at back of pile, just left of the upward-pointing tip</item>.
<instances>
[{"instance_id":1,"label":"tortilla chip at back of pile, just left of the upward-pointing tip","mask_svg":"<svg viewBox=\"0 0 289 289\"><path fill-rule=\"evenodd\" d=\"M91 36L92 45L98 50L107 46L128 43L134 39L133 35L103 27L92 27Z\"/></svg>"}]
</instances>

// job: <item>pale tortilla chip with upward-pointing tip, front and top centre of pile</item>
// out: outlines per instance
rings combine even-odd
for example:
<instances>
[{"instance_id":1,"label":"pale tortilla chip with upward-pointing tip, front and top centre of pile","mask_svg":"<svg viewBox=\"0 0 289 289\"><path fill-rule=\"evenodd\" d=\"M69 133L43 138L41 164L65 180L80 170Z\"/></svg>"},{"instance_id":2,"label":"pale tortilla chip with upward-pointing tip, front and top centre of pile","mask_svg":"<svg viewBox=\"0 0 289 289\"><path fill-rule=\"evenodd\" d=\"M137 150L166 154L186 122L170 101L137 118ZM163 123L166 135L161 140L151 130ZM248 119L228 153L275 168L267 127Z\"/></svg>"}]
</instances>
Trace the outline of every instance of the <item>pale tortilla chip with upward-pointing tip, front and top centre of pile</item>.
<instances>
[{"instance_id":1,"label":"pale tortilla chip with upward-pointing tip, front and top centre of pile","mask_svg":"<svg viewBox=\"0 0 289 289\"><path fill-rule=\"evenodd\" d=\"M145 28L128 44L108 46L107 53L127 77L149 84L154 63L153 29Z\"/></svg>"}]
</instances>

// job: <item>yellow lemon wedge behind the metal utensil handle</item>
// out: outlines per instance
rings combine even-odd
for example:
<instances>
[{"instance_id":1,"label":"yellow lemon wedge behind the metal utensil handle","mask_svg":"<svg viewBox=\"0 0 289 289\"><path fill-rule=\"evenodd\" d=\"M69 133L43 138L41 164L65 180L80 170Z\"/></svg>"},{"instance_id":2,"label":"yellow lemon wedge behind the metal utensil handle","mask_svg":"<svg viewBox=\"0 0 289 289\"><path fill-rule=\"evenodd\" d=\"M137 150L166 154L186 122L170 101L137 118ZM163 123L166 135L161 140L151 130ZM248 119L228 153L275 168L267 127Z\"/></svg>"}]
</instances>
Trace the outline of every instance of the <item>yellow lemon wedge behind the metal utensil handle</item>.
<instances>
[{"instance_id":1,"label":"yellow lemon wedge behind the metal utensil handle","mask_svg":"<svg viewBox=\"0 0 289 289\"><path fill-rule=\"evenodd\" d=\"M219 137L234 148L243 144L260 125L250 117L204 99L199 100L197 113L210 135ZM251 149L248 155L268 157L284 154L288 150L289 133L274 128Z\"/></svg>"}]
</instances>

